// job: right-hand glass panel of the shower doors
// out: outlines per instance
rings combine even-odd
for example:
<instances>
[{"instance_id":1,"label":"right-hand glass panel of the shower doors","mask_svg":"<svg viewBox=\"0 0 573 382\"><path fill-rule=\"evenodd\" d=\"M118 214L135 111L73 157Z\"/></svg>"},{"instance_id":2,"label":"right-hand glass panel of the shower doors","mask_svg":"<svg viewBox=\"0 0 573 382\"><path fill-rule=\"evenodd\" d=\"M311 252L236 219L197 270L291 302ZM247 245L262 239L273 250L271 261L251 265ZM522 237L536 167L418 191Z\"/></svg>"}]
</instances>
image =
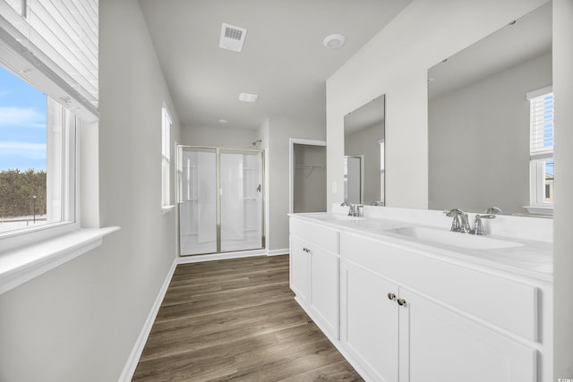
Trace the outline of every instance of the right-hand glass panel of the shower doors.
<instances>
[{"instance_id":1,"label":"right-hand glass panel of the shower doors","mask_svg":"<svg viewBox=\"0 0 573 382\"><path fill-rule=\"evenodd\" d=\"M220 152L220 250L264 247L262 152Z\"/></svg>"}]
</instances>

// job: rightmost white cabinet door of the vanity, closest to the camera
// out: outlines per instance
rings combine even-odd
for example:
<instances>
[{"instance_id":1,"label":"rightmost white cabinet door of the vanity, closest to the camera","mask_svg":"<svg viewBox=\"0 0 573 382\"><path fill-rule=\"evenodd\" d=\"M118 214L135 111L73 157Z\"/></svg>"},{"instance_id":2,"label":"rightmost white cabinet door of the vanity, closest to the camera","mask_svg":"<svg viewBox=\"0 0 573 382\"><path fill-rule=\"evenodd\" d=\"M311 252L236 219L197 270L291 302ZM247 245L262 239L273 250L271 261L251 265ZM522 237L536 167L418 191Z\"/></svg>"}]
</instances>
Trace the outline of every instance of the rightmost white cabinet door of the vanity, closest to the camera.
<instances>
[{"instance_id":1,"label":"rightmost white cabinet door of the vanity, closest to the camera","mask_svg":"<svg viewBox=\"0 0 573 382\"><path fill-rule=\"evenodd\" d=\"M400 382L534 382L534 349L400 288Z\"/></svg>"}]
</instances>

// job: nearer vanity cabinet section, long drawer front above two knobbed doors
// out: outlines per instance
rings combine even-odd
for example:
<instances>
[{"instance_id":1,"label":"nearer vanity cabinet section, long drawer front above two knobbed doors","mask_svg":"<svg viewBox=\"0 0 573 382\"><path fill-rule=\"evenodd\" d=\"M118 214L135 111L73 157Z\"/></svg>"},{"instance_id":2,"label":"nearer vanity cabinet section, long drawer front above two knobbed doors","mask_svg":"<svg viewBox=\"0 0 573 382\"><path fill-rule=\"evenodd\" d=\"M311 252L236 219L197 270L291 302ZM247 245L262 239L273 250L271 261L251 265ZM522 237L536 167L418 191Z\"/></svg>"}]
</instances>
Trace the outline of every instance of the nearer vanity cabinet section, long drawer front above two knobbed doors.
<instances>
[{"instance_id":1,"label":"nearer vanity cabinet section, long drawer front above two knobbed doors","mask_svg":"<svg viewBox=\"0 0 573 382\"><path fill-rule=\"evenodd\" d=\"M535 382L535 286L341 235L341 338L366 379Z\"/></svg>"}]
</instances>

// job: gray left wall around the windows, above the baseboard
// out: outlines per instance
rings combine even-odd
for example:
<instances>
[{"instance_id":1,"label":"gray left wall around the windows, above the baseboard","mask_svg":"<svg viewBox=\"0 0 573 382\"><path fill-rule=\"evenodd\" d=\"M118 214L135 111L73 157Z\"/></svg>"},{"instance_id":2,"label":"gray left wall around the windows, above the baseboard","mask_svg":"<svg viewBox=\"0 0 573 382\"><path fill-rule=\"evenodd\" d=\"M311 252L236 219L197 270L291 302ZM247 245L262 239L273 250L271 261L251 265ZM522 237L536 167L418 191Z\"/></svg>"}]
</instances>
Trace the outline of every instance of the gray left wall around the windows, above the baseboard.
<instances>
[{"instance_id":1,"label":"gray left wall around the windows, above the baseboard","mask_svg":"<svg viewBox=\"0 0 573 382\"><path fill-rule=\"evenodd\" d=\"M115 381L175 259L161 211L161 102L175 108L137 0L100 0L96 250L0 295L0 380ZM90 200L84 200L90 203Z\"/></svg>"}]
</instances>

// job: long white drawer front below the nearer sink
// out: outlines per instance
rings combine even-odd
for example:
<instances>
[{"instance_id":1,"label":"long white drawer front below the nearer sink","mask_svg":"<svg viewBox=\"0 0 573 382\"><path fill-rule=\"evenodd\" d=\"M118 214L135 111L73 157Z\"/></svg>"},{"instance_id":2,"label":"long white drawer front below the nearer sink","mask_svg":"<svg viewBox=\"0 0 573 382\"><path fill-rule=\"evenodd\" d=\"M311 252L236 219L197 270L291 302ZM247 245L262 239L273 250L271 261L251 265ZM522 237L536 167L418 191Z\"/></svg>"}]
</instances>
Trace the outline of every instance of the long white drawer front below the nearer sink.
<instances>
[{"instance_id":1,"label":"long white drawer front below the nearer sink","mask_svg":"<svg viewBox=\"0 0 573 382\"><path fill-rule=\"evenodd\" d=\"M341 256L531 341L538 340L539 291L533 285L461 267L353 233L342 233Z\"/></svg>"}]
</instances>

